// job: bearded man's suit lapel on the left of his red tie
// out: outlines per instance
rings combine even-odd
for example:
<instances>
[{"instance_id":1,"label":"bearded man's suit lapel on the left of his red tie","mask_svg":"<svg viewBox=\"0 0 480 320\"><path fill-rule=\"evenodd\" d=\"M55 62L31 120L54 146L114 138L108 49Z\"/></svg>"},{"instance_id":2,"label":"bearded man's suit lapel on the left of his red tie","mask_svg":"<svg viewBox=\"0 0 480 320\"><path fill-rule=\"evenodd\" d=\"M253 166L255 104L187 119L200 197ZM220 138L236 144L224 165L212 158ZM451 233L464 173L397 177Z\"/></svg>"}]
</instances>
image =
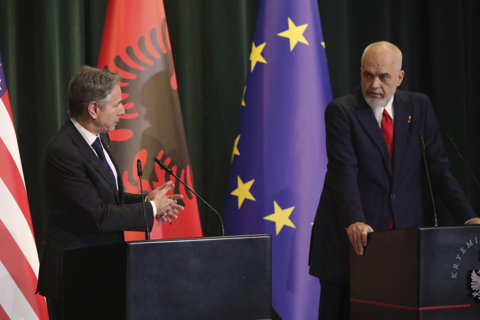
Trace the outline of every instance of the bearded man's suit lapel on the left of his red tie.
<instances>
[{"instance_id":1,"label":"bearded man's suit lapel on the left of his red tie","mask_svg":"<svg viewBox=\"0 0 480 320\"><path fill-rule=\"evenodd\" d=\"M378 122L376 122L373 111L371 110L370 106L366 104L365 99L361 94L361 89L359 88L355 90L355 99L355 107L357 108L356 117L378 148L378 151L383 158L383 163L385 164L385 167L391 176L390 155L388 153L388 147L386 145L385 138L381 133Z\"/></svg>"}]
</instances>

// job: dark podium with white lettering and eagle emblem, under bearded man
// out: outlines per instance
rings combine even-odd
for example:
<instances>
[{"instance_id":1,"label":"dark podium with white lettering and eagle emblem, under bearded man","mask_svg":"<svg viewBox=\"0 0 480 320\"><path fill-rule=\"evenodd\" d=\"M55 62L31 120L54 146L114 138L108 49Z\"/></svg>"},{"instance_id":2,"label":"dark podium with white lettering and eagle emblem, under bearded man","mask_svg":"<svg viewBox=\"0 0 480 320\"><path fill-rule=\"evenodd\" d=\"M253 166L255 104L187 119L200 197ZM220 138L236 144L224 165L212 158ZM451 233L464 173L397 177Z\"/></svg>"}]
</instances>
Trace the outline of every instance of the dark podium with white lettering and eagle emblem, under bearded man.
<instances>
[{"instance_id":1,"label":"dark podium with white lettering and eagle emblem, under bearded man","mask_svg":"<svg viewBox=\"0 0 480 320\"><path fill-rule=\"evenodd\" d=\"M479 319L480 226L372 232L350 250L350 319Z\"/></svg>"}]
</instances>

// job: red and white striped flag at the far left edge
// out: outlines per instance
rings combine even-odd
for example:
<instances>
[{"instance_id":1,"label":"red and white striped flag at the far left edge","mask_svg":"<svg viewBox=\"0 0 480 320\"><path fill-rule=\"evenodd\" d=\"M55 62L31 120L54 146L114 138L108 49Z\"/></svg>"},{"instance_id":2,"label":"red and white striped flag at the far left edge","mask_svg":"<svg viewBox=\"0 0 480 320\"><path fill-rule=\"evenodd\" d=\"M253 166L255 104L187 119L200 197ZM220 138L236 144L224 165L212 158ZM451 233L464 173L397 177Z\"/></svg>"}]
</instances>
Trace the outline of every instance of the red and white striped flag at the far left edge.
<instances>
[{"instance_id":1,"label":"red and white striped flag at the far left edge","mask_svg":"<svg viewBox=\"0 0 480 320\"><path fill-rule=\"evenodd\" d=\"M0 319L48 319L1 56L0 163Z\"/></svg>"}]
</instances>

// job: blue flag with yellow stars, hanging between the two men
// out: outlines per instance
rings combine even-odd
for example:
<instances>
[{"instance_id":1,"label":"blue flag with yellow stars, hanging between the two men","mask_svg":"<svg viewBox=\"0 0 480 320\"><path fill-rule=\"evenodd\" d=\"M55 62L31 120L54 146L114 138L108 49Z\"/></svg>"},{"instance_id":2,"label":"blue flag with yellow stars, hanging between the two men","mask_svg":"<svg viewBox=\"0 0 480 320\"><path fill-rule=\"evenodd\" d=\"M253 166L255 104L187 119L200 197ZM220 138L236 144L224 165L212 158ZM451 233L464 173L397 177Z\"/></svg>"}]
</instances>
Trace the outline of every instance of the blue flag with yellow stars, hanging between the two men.
<instances>
[{"instance_id":1,"label":"blue flag with yellow stars, hanging between the two men","mask_svg":"<svg viewBox=\"0 0 480 320\"><path fill-rule=\"evenodd\" d=\"M331 101L316 0L261 1L223 211L225 232L272 237L272 306L313 319L310 233L326 171Z\"/></svg>"}]
</instances>

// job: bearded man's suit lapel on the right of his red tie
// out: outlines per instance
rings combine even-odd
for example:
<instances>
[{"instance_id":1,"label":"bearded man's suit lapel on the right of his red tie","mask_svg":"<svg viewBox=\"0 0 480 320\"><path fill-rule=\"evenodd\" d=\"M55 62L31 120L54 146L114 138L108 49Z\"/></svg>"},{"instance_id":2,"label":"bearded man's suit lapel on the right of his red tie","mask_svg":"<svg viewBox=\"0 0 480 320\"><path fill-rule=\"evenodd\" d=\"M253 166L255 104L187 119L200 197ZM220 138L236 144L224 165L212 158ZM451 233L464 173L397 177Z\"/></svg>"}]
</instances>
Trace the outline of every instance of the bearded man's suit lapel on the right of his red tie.
<instances>
[{"instance_id":1,"label":"bearded man's suit lapel on the right of his red tie","mask_svg":"<svg viewBox=\"0 0 480 320\"><path fill-rule=\"evenodd\" d=\"M410 101L397 90L393 98L394 123L393 123L393 174L398 172L403 149L408 132L408 116L411 115L412 105Z\"/></svg>"}]
</instances>

